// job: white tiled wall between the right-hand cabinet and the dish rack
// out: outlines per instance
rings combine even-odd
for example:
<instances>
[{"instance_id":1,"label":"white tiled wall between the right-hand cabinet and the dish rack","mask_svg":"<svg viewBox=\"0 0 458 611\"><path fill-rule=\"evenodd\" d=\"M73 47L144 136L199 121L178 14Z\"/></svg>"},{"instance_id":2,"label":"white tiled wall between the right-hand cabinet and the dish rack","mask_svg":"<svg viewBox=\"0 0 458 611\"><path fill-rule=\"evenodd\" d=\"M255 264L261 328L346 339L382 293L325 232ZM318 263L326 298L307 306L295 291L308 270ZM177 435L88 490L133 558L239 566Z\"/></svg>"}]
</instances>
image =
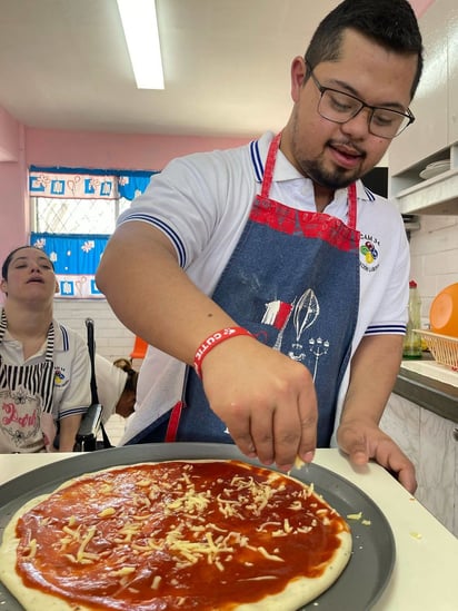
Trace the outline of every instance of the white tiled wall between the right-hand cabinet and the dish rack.
<instances>
[{"instance_id":1,"label":"white tiled wall between the right-hand cabinet and the dish rack","mask_svg":"<svg viewBox=\"0 0 458 611\"><path fill-rule=\"evenodd\" d=\"M434 297L458 283L458 216L420 216L421 229L410 236L410 277L422 297L421 318L429 323Z\"/></svg>"}]
</instances>

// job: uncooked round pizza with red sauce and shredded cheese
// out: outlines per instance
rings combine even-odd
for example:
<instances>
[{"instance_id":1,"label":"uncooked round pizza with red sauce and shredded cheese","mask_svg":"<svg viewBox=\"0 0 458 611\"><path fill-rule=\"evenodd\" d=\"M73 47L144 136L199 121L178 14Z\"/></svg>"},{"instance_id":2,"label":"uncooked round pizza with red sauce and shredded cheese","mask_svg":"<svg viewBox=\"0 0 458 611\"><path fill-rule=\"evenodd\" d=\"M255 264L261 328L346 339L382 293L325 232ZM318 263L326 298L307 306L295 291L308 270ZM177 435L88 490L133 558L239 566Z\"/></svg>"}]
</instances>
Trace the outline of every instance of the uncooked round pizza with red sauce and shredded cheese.
<instances>
[{"instance_id":1,"label":"uncooked round pizza with red sauce and shredded cheese","mask_svg":"<svg viewBox=\"0 0 458 611\"><path fill-rule=\"evenodd\" d=\"M241 461L167 461L27 503L4 530L0 580L27 611L296 611L350 553L312 486Z\"/></svg>"}]
</instances>

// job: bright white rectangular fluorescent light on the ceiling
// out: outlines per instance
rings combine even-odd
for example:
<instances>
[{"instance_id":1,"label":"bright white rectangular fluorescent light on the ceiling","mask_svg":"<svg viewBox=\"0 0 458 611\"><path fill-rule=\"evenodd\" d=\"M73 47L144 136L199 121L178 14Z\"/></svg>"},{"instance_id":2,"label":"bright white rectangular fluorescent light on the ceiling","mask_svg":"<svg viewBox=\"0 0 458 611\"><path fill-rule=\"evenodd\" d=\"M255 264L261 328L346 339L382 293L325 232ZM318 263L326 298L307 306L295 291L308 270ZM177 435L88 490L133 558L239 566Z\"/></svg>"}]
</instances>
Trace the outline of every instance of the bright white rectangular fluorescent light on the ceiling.
<instances>
[{"instance_id":1,"label":"bright white rectangular fluorescent light on the ceiling","mask_svg":"<svg viewBox=\"0 0 458 611\"><path fill-rule=\"evenodd\" d=\"M163 89L156 0L118 0L130 62L139 89Z\"/></svg>"}]
</instances>

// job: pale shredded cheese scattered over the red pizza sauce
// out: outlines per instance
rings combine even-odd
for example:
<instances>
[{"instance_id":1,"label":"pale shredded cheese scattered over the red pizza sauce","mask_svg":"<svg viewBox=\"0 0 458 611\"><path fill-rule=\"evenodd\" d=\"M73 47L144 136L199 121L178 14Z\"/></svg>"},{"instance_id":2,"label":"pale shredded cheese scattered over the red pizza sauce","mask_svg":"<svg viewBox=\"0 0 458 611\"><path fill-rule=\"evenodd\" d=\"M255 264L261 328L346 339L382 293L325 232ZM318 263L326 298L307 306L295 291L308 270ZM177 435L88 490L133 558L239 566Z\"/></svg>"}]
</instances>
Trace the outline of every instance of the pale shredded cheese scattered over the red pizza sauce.
<instances>
[{"instance_id":1,"label":"pale shredded cheese scattered over the red pizza sauce","mask_svg":"<svg viewBox=\"0 0 458 611\"><path fill-rule=\"evenodd\" d=\"M300 469L303 464L296 466ZM180 580L175 571L197 563L211 565L222 574L238 555L240 565L246 568L267 566L266 561L285 563L288 559L282 556L282 539L303 538L313 529L329 524L330 515L335 513L319 509L318 502L309 502L312 484L300 489L289 486L275 472L267 479L253 476L248 470L230 481L218 477L217 493L199 485L191 464L183 465L170 479L155 480L145 474L148 475L143 472L133 484L129 482L128 503L117 501L116 485L102 483L97 495L93 493L98 507L94 514L81 516L77 512L60 526L61 556L80 566L99 563L103 566L102 560L107 561L110 570L106 573L116 578L119 592L137 592L143 575L140 570L136 573L136 559L142 559L141 563L157 556L158 552L175 568L160 574L158 565L151 564L147 587L155 595L170 585L178 589ZM313 513L318 520L312 518ZM151 515L159 516L157 523ZM347 518L359 520L361 515ZM167 528L161 523L162 519ZM238 522L245 526L250 519L256 523L251 531L238 529ZM226 528L219 525L219 520ZM32 540L27 554L32 558L36 553L37 543ZM261 573L250 579L278 578ZM177 598L175 604L186 608L187 599Z\"/></svg>"}]
</instances>

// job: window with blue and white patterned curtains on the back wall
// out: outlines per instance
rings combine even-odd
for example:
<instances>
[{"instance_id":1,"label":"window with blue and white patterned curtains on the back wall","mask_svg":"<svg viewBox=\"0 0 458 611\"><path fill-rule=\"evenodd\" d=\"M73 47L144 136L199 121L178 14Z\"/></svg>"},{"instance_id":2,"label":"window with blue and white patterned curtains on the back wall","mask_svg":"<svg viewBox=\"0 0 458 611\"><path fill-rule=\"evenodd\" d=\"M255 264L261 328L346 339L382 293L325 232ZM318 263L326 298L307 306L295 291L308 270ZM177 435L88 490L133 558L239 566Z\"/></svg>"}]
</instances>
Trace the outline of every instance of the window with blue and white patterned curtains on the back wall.
<instances>
[{"instance_id":1,"label":"window with blue and white patterned curtains on the back wall","mask_svg":"<svg viewBox=\"0 0 458 611\"><path fill-rule=\"evenodd\" d=\"M54 264L60 297L100 298L94 275L118 216L153 171L30 168L30 244Z\"/></svg>"}]
</instances>

